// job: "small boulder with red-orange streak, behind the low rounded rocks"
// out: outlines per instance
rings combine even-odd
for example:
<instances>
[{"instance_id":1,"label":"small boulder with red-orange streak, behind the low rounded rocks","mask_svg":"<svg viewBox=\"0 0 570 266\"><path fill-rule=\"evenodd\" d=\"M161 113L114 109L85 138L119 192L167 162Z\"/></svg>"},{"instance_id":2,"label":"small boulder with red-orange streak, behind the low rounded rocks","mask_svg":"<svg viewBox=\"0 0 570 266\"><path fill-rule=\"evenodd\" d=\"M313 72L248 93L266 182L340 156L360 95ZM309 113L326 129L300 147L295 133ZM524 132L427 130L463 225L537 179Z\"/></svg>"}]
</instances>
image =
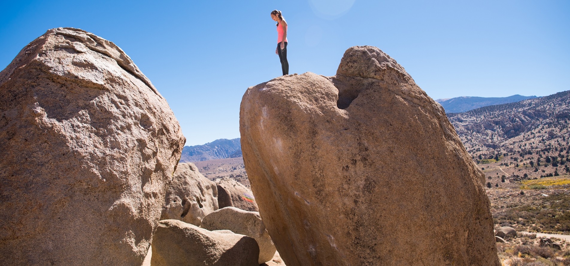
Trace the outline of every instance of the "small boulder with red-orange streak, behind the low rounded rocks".
<instances>
[{"instance_id":1,"label":"small boulder with red-orange streak, behind the low rounded rocks","mask_svg":"<svg viewBox=\"0 0 570 266\"><path fill-rule=\"evenodd\" d=\"M231 178L216 179L218 185L218 206L236 207L246 211L259 211L251 190Z\"/></svg>"}]
</instances>

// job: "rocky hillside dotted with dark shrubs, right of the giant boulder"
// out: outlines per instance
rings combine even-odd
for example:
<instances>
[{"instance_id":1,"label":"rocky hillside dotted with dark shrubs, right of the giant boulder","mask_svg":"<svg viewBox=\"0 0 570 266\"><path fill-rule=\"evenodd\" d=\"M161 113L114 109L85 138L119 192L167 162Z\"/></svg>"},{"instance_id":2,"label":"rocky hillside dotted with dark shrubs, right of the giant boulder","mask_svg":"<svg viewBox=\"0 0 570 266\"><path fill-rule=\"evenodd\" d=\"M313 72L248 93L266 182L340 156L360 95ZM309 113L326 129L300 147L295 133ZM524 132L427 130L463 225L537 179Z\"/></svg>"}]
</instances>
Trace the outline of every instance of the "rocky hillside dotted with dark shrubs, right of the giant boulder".
<instances>
[{"instance_id":1,"label":"rocky hillside dotted with dark shrubs, right of the giant boulder","mask_svg":"<svg viewBox=\"0 0 570 266\"><path fill-rule=\"evenodd\" d=\"M557 154L568 150L570 91L447 117L475 159Z\"/></svg>"}]
</instances>

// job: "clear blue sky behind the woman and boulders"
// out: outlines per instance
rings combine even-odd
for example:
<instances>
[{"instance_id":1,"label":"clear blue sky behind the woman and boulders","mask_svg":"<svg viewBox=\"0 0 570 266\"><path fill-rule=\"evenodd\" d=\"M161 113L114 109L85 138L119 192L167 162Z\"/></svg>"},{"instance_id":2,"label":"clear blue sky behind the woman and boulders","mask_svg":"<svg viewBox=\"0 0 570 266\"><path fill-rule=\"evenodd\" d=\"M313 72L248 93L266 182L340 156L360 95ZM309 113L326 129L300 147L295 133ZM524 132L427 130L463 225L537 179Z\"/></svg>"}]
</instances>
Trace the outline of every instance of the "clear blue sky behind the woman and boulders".
<instances>
[{"instance_id":1,"label":"clear blue sky behind the woman and boulders","mask_svg":"<svg viewBox=\"0 0 570 266\"><path fill-rule=\"evenodd\" d=\"M290 73L335 75L376 46L433 99L545 96L570 84L570 1L3 1L0 68L49 28L111 40L182 125L187 145L239 137L247 87L281 75L271 10L289 24Z\"/></svg>"}]
</instances>

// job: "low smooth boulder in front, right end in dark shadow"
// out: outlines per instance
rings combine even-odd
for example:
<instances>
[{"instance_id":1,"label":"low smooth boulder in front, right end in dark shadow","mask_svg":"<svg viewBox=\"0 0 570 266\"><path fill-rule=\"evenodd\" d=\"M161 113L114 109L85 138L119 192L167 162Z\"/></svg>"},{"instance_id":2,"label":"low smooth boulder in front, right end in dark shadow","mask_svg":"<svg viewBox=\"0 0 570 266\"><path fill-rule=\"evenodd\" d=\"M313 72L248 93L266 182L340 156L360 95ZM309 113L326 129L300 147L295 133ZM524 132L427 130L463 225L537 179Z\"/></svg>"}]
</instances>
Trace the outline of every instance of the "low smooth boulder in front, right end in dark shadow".
<instances>
[{"instance_id":1,"label":"low smooth boulder in front, right end in dark shadow","mask_svg":"<svg viewBox=\"0 0 570 266\"><path fill-rule=\"evenodd\" d=\"M245 235L221 234L184 223L161 220L152 241L152 266L257 266L259 248Z\"/></svg>"}]
</instances>

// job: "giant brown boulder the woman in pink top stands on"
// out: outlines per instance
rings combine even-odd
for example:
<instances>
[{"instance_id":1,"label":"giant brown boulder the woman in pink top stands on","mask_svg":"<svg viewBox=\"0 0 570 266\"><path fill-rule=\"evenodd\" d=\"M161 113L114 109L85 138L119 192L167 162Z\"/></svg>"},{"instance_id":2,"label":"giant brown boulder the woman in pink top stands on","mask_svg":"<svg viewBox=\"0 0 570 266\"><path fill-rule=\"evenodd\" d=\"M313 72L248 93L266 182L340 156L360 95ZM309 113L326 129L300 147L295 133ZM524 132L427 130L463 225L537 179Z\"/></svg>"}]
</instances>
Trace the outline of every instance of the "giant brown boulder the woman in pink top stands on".
<instances>
[{"instance_id":1,"label":"giant brown boulder the woman in pink top stands on","mask_svg":"<svg viewBox=\"0 0 570 266\"><path fill-rule=\"evenodd\" d=\"M376 47L247 89L243 159L288 266L500 265L483 173L441 105Z\"/></svg>"}]
</instances>

